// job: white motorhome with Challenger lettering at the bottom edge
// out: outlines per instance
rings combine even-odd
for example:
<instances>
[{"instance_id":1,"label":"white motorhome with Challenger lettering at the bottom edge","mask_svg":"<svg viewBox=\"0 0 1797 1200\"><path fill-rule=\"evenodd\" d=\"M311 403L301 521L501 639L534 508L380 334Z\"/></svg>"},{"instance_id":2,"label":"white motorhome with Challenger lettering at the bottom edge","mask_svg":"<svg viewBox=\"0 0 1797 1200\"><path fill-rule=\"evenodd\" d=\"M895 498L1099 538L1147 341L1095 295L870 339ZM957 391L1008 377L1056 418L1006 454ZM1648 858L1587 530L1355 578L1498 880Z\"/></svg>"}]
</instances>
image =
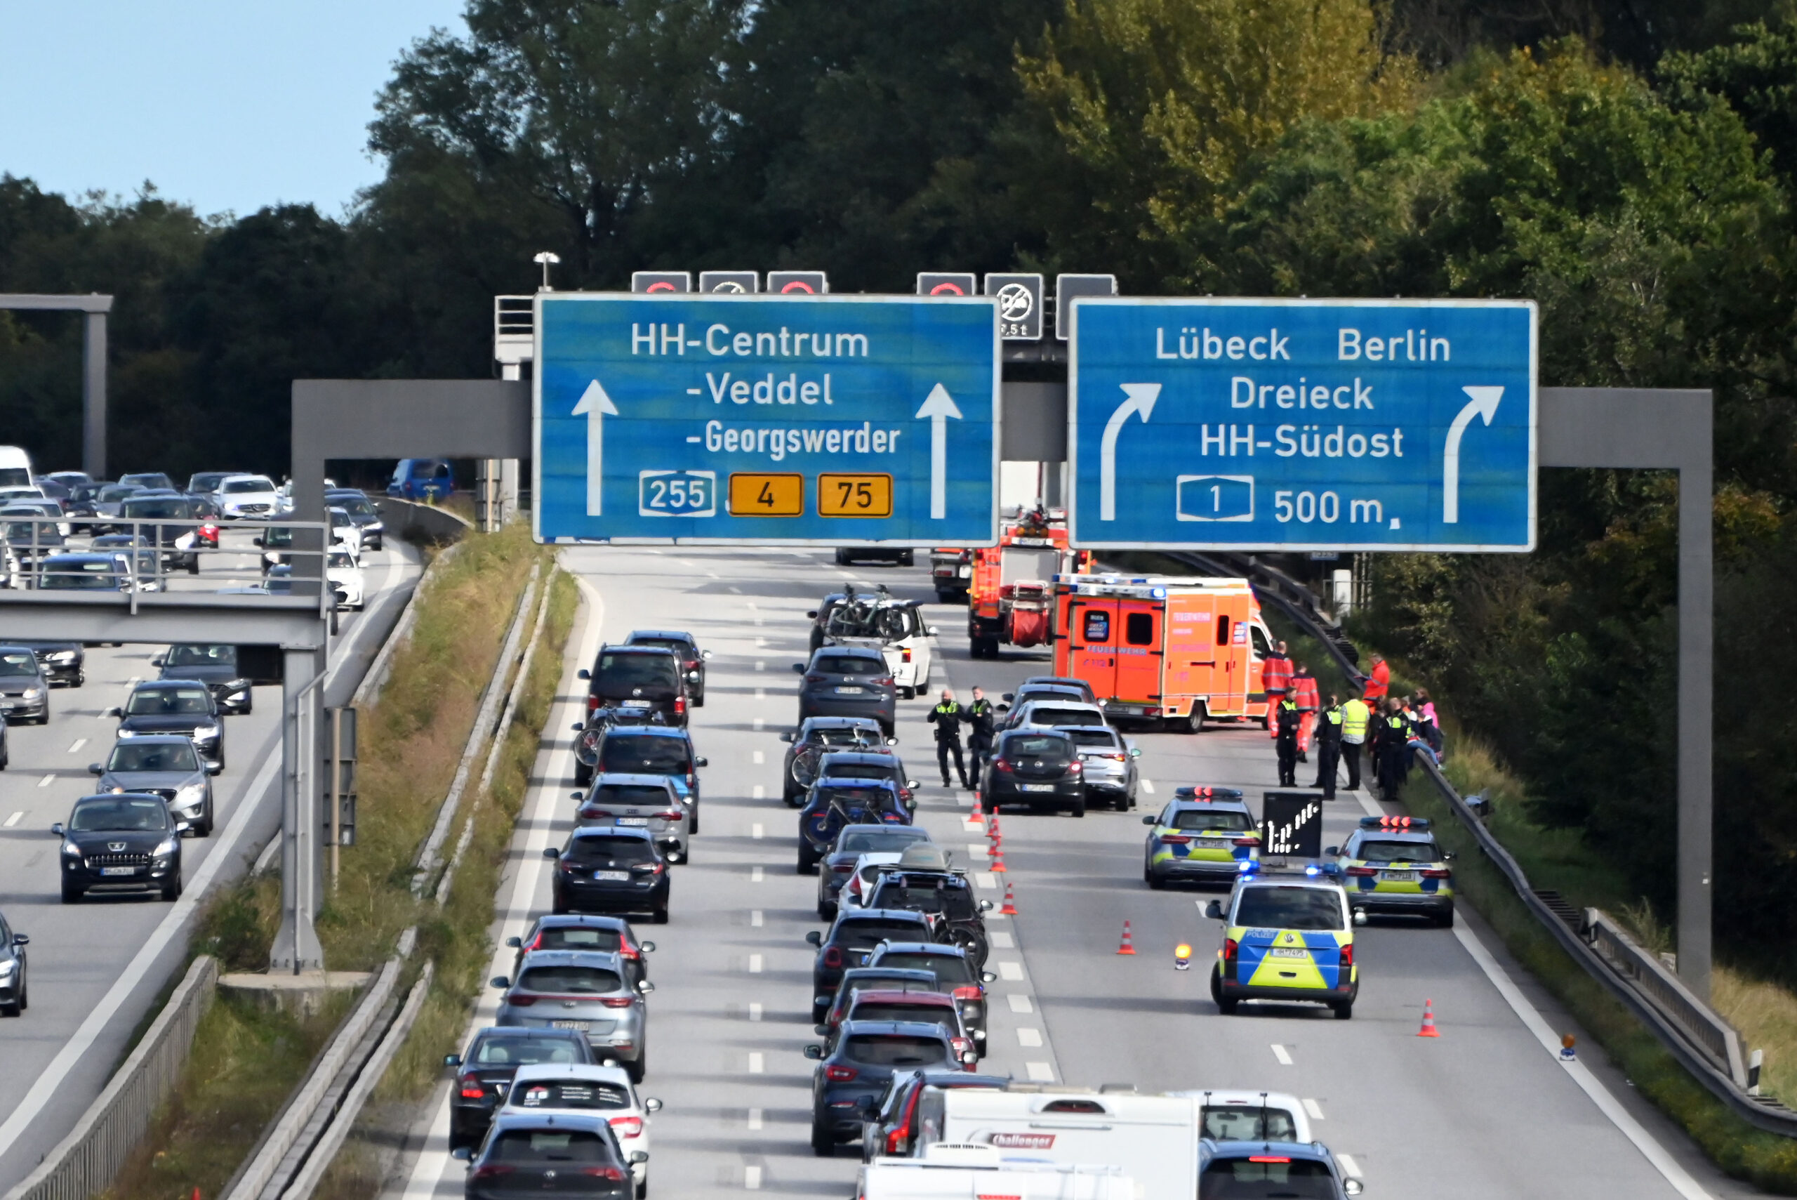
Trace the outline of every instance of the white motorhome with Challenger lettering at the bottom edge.
<instances>
[{"instance_id":1,"label":"white motorhome with Challenger lettering at the bottom edge","mask_svg":"<svg viewBox=\"0 0 1797 1200\"><path fill-rule=\"evenodd\" d=\"M1089 1090L938 1090L918 1099L918 1150L990 1146L1048 1162L1105 1162L1136 1180L1136 1200L1199 1195L1200 1101Z\"/></svg>"}]
</instances>

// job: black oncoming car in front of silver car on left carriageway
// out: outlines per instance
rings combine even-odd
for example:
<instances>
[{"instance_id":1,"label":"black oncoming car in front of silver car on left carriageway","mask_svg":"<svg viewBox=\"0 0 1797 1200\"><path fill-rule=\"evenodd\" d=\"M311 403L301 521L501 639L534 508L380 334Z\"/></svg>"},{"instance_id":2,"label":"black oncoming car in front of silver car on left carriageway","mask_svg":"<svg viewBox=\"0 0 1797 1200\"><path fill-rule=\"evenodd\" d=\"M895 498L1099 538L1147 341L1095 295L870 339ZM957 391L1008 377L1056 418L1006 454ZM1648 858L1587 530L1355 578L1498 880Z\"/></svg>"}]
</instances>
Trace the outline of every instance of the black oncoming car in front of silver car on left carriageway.
<instances>
[{"instance_id":1,"label":"black oncoming car in front of silver car on left carriageway","mask_svg":"<svg viewBox=\"0 0 1797 1200\"><path fill-rule=\"evenodd\" d=\"M181 898L181 834L162 796L83 796L50 832L63 839L63 904L90 891L155 891Z\"/></svg>"}]
</instances>

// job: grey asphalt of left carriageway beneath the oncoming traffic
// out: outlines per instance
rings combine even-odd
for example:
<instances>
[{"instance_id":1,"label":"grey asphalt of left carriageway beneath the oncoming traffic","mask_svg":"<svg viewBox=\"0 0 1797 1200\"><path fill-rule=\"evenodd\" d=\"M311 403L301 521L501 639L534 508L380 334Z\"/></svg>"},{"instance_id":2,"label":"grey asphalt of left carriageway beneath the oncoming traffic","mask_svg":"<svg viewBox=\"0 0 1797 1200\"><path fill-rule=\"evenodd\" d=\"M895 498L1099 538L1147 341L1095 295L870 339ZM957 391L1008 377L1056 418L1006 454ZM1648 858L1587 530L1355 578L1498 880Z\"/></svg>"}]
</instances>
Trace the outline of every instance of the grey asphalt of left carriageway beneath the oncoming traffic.
<instances>
[{"instance_id":1,"label":"grey asphalt of left carriageway beneath the oncoming traffic","mask_svg":"<svg viewBox=\"0 0 1797 1200\"><path fill-rule=\"evenodd\" d=\"M176 577L173 586L253 582L257 551L248 544L244 551L207 560L208 575L235 569L241 578ZM417 551L397 539L363 555L368 600L361 613L341 614L327 704L349 701L417 577ZM205 631L196 629L192 640L205 641ZM50 825L88 794L88 763L111 749L117 720L101 713L124 704L133 683L160 674L149 659L164 649L88 649L84 686L50 692L50 722L7 729L13 762L0 772L0 911L31 936L31 1008L0 1019L0 1076L9 1081L0 1089L0 1191L23 1178L99 1096L187 957L187 931L207 889L241 875L280 823L280 688L261 686L248 715L225 719L225 772L212 780L217 828L181 844L183 898L61 904L61 843Z\"/></svg>"}]
</instances>

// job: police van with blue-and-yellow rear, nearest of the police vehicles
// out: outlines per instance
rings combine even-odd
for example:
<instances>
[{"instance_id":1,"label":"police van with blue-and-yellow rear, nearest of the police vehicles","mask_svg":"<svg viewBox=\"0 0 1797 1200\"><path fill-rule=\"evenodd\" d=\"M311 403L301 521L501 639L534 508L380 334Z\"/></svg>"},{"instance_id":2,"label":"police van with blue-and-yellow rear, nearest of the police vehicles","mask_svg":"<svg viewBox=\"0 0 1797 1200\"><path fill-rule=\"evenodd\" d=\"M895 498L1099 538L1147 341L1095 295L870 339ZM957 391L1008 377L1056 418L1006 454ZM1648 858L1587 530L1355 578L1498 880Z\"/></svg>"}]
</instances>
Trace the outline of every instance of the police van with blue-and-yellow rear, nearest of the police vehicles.
<instances>
[{"instance_id":1,"label":"police van with blue-and-yellow rear, nearest of the police vehicles","mask_svg":"<svg viewBox=\"0 0 1797 1200\"><path fill-rule=\"evenodd\" d=\"M1242 875L1206 916L1226 925L1211 970L1217 1011L1278 1001L1328 1004L1341 1020L1353 1017L1360 993L1353 929L1366 913L1350 911L1348 893L1323 868Z\"/></svg>"}]
</instances>

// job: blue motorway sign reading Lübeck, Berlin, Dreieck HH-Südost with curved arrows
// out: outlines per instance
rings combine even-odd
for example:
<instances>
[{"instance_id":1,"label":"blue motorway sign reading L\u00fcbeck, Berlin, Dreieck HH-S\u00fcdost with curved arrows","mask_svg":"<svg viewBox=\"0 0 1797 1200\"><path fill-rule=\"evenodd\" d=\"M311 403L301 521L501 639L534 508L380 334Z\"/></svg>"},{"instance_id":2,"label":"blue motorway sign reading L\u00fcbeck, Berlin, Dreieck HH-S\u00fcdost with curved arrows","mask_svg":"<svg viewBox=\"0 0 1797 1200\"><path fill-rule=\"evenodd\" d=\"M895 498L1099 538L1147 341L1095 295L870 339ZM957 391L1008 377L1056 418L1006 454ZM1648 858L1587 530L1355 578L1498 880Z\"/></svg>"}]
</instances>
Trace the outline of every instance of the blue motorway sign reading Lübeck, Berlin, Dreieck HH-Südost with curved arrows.
<instances>
[{"instance_id":1,"label":"blue motorway sign reading L\u00fcbeck, Berlin, Dreieck HH-S\u00fcdost with curved arrows","mask_svg":"<svg viewBox=\"0 0 1797 1200\"><path fill-rule=\"evenodd\" d=\"M1533 550L1533 302L1073 313L1076 546Z\"/></svg>"}]
</instances>

